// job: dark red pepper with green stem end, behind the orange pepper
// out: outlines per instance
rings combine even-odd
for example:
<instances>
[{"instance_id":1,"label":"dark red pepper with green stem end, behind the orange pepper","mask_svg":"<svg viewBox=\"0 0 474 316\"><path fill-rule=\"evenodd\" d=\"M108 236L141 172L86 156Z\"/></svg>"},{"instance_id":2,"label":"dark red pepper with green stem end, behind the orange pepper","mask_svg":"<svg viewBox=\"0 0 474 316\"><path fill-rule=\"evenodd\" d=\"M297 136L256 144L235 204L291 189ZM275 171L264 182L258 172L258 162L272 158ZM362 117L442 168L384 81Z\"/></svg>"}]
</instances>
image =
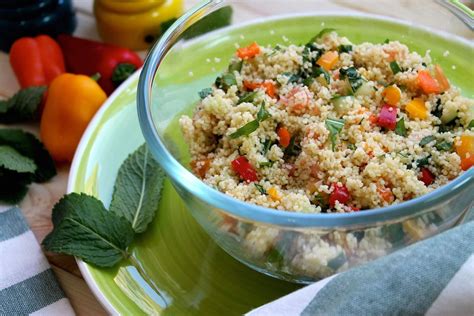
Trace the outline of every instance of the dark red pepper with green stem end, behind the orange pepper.
<instances>
[{"instance_id":1,"label":"dark red pepper with green stem end, behind the orange pepper","mask_svg":"<svg viewBox=\"0 0 474 316\"><path fill-rule=\"evenodd\" d=\"M143 65L135 52L70 35L59 35L68 71L92 76L100 74L97 83L110 95L125 79Z\"/></svg>"}]
</instances>

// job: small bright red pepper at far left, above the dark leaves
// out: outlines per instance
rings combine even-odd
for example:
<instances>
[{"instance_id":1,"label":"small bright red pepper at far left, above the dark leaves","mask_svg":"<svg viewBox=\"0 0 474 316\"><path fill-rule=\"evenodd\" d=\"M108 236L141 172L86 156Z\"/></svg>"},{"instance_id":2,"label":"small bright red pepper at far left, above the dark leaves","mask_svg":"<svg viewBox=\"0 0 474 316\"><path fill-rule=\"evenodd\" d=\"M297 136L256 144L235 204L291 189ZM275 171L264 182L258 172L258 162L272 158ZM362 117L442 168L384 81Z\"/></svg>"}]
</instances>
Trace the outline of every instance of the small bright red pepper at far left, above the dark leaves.
<instances>
[{"instance_id":1,"label":"small bright red pepper at far left, above the dark leaves","mask_svg":"<svg viewBox=\"0 0 474 316\"><path fill-rule=\"evenodd\" d=\"M22 88L47 86L66 72L61 48L48 35L16 40L10 49L10 64Z\"/></svg>"}]
</instances>

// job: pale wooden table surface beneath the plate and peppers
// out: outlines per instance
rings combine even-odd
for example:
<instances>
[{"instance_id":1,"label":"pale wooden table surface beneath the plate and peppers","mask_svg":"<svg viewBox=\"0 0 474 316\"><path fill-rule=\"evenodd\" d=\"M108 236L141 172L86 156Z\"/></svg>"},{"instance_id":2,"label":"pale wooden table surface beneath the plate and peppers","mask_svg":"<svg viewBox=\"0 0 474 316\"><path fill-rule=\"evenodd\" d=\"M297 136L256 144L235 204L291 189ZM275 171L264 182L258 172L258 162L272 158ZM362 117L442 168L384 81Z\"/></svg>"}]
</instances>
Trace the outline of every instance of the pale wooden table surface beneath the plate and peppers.
<instances>
[{"instance_id":1,"label":"pale wooden table surface beneath the plate and peppers","mask_svg":"<svg viewBox=\"0 0 474 316\"><path fill-rule=\"evenodd\" d=\"M268 3L270 0L259 0L257 4L245 4L245 12L238 14L245 14L246 18L252 14L265 14L265 6L261 4ZM390 14L389 12L397 12L403 14L405 17L412 16L418 19L419 22L433 28L445 28L447 23L441 25L440 20L453 19L447 11L439 11L439 8L432 1L423 0L426 4L425 11L412 10L411 1L393 1L393 0L313 0L321 2L321 7L324 9L338 10L341 6L349 6L356 10L362 10L375 14ZM189 8L198 0L187 0L186 8ZM257 1L256 1L257 2ZM288 1L278 3L278 5L288 5ZM293 3L293 2L292 2ZM304 1L302 1L304 4ZM398 6L402 4L402 9ZM376 4L376 5L374 5ZM95 26L95 19L92 13L92 0L76 0L74 5L77 11L78 27L75 35L100 40ZM275 4L272 1L272 5ZM400 12L400 10L402 12ZM436 14L436 15L435 15ZM234 15L234 19L238 19L238 15ZM473 34L463 26L461 23L454 23L451 25L451 30L465 37L473 39ZM8 55L0 53L0 97L9 97L13 95L18 89L18 83L11 70L8 62ZM1 126L1 125L0 125ZM24 128L34 134L38 135L38 126L32 124L16 125ZM58 175L50 182L44 184L32 184L28 195L20 204L23 214L25 215L28 224L34 232L39 242L51 231L51 209L53 205L66 193L66 185L68 179L69 166L58 166ZM81 276L77 264L73 257L58 254L46 254L53 271L66 292L74 310L78 315L106 315L106 311L102 308L100 303L95 299L87 284Z\"/></svg>"}]
</instances>

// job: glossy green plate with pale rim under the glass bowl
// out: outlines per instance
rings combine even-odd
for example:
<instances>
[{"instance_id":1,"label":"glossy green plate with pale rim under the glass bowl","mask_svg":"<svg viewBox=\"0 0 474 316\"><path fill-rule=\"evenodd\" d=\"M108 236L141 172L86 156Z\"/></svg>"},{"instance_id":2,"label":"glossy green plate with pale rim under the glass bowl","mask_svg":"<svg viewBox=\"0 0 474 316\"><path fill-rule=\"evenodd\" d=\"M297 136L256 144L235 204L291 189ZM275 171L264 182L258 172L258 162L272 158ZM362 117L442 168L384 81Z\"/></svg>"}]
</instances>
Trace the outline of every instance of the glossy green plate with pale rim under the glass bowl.
<instances>
[{"instance_id":1,"label":"glossy green plate with pale rim under the glass bowl","mask_svg":"<svg viewBox=\"0 0 474 316\"><path fill-rule=\"evenodd\" d=\"M263 44L276 44L282 41L282 35L291 42L302 43L317 33L324 22L325 27L337 28L341 35L356 43L383 42L389 38L400 40L419 52L431 49L431 56L443 66L451 81L465 94L473 95L469 81L469 74L474 72L473 48L467 41L368 16L293 16L285 19L260 20L258 25L247 24L241 29L212 33L206 36L206 45L194 41L180 52L181 62L176 64L173 73L165 69L160 77L166 81L173 74L188 73L193 69L193 76L182 78L181 93L195 94L211 73L225 67L222 62L212 65L219 69L212 69L203 62L206 56L226 60L232 55L235 42L244 45L257 40ZM366 22L362 26L361 19ZM240 34L245 34L247 39L240 39ZM449 57L443 57L446 50L450 51ZM456 71L463 68L464 71ZM105 205L109 204L120 164L144 141L136 113L137 81L138 74L122 85L89 125L71 167L69 191L93 194ZM170 89L176 90L176 86ZM158 208L150 229L134 243L133 255L149 282L161 290L164 299L156 295L132 267L97 269L79 261L86 281L109 312L125 315L242 314L297 289L293 284L250 270L222 251L194 221L169 182L165 183Z\"/></svg>"}]
</instances>

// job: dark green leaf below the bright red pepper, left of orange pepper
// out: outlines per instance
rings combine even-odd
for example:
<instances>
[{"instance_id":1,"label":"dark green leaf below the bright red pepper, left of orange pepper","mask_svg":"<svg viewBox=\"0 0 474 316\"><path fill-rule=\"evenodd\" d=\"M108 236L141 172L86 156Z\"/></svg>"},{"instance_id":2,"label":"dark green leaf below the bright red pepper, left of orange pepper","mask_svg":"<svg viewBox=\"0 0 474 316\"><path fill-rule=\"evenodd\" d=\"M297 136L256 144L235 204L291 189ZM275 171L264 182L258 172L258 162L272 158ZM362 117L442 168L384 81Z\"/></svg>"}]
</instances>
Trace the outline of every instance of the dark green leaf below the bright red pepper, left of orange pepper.
<instances>
[{"instance_id":1,"label":"dark green leaf below the bright red pepper, left of orange pepper","mask_svg":"<svg viewBox=\"0 0 474 316\"><path fill-rule=\"evenodd\" d=\"M0 123L19 123L39 119L38 108L46 87L20 90L8 100L0 101Z\"/></svg>"}]
</instances>

